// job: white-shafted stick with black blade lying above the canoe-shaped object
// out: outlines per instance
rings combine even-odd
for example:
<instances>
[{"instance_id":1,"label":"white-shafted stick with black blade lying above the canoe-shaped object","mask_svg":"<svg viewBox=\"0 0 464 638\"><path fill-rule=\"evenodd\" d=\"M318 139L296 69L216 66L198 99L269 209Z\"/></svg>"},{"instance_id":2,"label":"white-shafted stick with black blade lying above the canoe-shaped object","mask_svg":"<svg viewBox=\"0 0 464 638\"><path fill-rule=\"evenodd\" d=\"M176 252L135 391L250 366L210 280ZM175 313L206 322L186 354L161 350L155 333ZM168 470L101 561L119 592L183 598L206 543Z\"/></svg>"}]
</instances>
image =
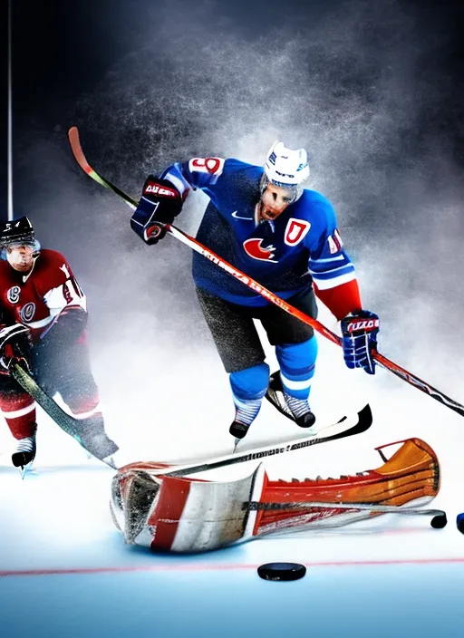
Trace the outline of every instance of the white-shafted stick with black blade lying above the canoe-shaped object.
<instances>
[{"instance_id":1,"label":"white-shafted stick with black blade lying above the canoe-shaped object","mask_svg":"<svg viewBox=\"0 0 464 638\"><path fill-rule=\"evenodd\" d=\"M345 425L346 421L346 425ZM246 463L248 460L260 460L266 457L273 457L277 454L284 454L285 452L295 451L295 449L310 448L318 443L325 443L330 440L344 439L345 437L351 437L355 434L362 434L372 425L372 411L369 403L365 405L361 411L357 413L357 421L350 425L347 417L343 417L332 425L327 425L313 436L305 437L304 439L295 439L287 441L286 443L280 443L279 445L270 445L264 448L249 449L243 454L229 454L226 457L218 459L209 459L202 463L196 463L184 467L178 467L176 469L165 469L156 471L158 475L166 475L171 477L183 477L188 474L195 474L197 472L204 472L208 469L225 468L227 465L235 465L236 463ZM331 430L338 430L331 434ZM324 434L326 432L326 434Z\"/></svg>"}]
</instances>

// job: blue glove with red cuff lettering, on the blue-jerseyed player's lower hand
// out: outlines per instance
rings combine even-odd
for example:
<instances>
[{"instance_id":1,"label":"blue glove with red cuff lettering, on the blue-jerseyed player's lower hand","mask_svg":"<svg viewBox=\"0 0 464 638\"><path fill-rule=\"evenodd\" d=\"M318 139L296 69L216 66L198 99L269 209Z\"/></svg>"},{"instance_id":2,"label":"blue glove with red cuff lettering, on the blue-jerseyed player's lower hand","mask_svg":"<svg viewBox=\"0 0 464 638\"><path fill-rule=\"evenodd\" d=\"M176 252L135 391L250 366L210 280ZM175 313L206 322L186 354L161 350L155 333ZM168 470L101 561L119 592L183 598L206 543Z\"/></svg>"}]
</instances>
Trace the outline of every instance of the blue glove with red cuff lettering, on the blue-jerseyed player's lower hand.
<instances>
[{"instance_id":1,"label":"blue glove with red cuff lettering, on the blue-jerseyed player's lower hand","mask_svg":"<svg viewBox=\"0 0 464 638\"><path fill-rule=\"evenodd\" d=\"M368 310L359 310L342 319L342 345L344 362L349 368L363 368L375 374L372 352L377 349L379 316Z\"/></svg>"}]
</instances>

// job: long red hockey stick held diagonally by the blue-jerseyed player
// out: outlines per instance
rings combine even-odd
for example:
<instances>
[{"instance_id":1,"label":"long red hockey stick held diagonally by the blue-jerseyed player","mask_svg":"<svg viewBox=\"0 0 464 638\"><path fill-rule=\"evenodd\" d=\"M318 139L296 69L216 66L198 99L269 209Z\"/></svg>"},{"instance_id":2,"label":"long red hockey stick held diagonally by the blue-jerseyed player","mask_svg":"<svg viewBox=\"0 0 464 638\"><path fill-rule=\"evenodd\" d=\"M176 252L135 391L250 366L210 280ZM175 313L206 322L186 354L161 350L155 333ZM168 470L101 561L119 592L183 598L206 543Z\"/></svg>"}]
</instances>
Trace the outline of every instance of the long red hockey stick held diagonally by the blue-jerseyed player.
<instances>
[{"instance_id":1,"label":"long red hockey stick held diagonally by the blue-jerseyed player","mask_svg":"<svg viewBox=\"0 0 464 638\"><path fill-rule=\"evenodd\" d=\"M119 198L121 198L122 201L124 201L129 207L132 208L132 210L135 210L135 208L137 208L137 202L134 199L130 198L129 195L126 195L126 193L124 193L121 189L118 189L117 186L111 184L111 182L109 182L107 179L102 178L101 175L99 175L94 169L92 169L91 165L86 160L85 155L83 154L81 142L79 140L79 131L75 126L73 126L73 128L69 130L68 135L74 158L76 159L82 170L84 170L87 175L89 175L89 177L101 184L105 189L112 190L112 192L115 193ZM238 279L238 281L241 281L242 284L247 285L248 288L254 290L258 295L263 296L265 299L267 299L267 301L277 305L279 308L282 308L282 310L285 310L286 313L292 314L293 316L297 317L304 324L311 325L314 330L316 330L318 333L323 334L324 337L329 341L340 346L342 345L342 338L326 328L324 324L321 324L316 319L313 319L307 314L302 313L293 305L287 304L284 299L281 299L277 295L274 295L274 293L272 293L270 290L267 290L267 288L265 288L263 285L258 284L254 279L243 273L241 270L238 270L238 268L236 268L235 266L228 264L227 261L225 261L222 257L216 255L216 253L213 253L212 250L209 250L207 247L200 244L197 239L190 237L183 231L179 230L179 228L176 228L172 225L168 225L167 228L170 235L176 237L176 239L179 239L179 241L181 241L183 244L186 244L192 250L195 250L200 255L206 257L207 259L209 259L209 261L212 261L219 268L225 270L229 275L232 275L236 279ZM375 361L385 370L389 370L393 374L396 374L396 376L400 377L403 381L410 383L418 390L428 394L432 399L440 401L440 403L445 405L450 410L458 412L458 414L464 416L463 405L461 405L457 401L454 401L453 399L450 399L449 396L443 394L443 392L431 386L430 383L422 381L419 377L415 376L411 372L408 372L404 368L401 368L401 366L399 366L395 362L392 362L390 359L387 359L387 357L383 356L381 353L374 352L372 353L372 356Z\"/></svg>"}]
</instances>

